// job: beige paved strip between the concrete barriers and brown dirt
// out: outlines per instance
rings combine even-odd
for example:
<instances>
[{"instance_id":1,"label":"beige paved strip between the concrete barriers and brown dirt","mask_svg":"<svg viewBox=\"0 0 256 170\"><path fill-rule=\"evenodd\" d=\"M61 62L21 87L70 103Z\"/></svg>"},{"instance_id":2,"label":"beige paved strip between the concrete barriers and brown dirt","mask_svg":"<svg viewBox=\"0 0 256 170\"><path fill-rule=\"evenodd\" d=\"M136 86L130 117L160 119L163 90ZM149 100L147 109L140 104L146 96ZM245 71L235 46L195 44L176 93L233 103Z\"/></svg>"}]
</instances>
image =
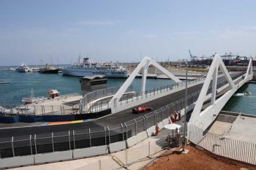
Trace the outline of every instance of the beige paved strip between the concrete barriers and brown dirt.
<instances>
[{"instance_id":1,"label":"beige paved strip between the concrete barriers and brown dirt","mask_svg":"<svg viewBox=\"0 0 256 170\"><path fill-rule=\"evenodd\" d=\"M132 169L132 165L135 163L142 163L142 166L146 165L150 160L154 160L159 157L163 150L173 147L180 147L181 140L176 140L178 136L182 136L181 133L174 133L170 135L170 143L167 141L167 134L153 140L146 141L140 146L130 147L121 152L113 153L110 156L104 158L96 158L90 163L81 165L77 170L94 169L94 170L107 170L107 169ZM144 163L143 163L144 162ZM108 165L108 166L107 166Z\"/></svg>"}]
</instances>

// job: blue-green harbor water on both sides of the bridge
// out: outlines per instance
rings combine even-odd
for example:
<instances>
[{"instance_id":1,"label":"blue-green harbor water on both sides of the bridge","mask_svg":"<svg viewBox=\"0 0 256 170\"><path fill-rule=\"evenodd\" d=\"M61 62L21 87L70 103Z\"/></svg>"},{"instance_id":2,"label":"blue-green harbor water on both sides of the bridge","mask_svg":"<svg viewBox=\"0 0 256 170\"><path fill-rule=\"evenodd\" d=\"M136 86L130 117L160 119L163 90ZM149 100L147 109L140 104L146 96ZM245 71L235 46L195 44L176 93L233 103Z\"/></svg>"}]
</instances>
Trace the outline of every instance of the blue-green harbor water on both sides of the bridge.
<instances>
[{"instance_id":1,"label":"blue-green harbor water on both sides of the bridge","mask_svg":"<svg viewBox=\"0 0 256 170\"><path fill-rule=\"evenodd\" d=\"M39 74L37 72L18 73L0 71L0 80L11 82L0 85L0 106L10 107L21 104L24 97L48 96L48 90L59 90L61 96L81 95L79 77L62 76L62 74ZM108 79L107 87L120 87L126 79ZM148 79L146 89L158 88L172 84L172 80ZM141 79L132 82L132 90L140 91ZM249 92L246 93L246 92ZM230 98L223 110L256 115L256 84L246 84Z\"/></svg>"}]
</instances>

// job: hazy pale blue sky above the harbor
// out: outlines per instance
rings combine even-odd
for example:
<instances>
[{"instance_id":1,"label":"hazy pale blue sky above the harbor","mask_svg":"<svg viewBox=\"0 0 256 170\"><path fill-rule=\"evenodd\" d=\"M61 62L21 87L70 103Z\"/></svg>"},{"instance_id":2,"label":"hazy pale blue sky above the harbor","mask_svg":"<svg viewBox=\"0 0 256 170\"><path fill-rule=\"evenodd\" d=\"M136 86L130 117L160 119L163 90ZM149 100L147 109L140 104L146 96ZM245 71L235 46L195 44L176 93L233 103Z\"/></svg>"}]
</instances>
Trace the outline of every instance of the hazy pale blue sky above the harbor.
<instances>
[{"instance_id":1,"label":"hazy pale blue sky above the harbor","mask_svg":"<svg viewBox=\"0 0 256 170\"><path fill-rule=\"evenodd\" d=\"M1 0L0 66L256 56L255 0Z\"/></svg>"}]
</instances>

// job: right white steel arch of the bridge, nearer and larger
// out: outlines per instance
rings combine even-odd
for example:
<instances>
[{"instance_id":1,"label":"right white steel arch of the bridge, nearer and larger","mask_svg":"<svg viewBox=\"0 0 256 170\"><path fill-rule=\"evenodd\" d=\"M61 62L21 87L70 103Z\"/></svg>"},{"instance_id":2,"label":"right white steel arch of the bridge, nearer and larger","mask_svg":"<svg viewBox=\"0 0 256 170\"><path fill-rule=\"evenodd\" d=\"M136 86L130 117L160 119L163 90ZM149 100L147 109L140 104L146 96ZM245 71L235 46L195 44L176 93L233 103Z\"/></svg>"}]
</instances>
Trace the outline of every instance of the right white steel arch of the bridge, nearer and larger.
<instances>
[{"instance_id":1,"label":"right white steel arch of the bridge, nearer and larger","mask_svg":"<svg viewBox=\"0 0 256 170\"><path fill-rule=\"evenodd\" d=\"M222 73L224 74L227 82L230 85L230 90L228 90L227 93L225 93L223 96L216 100L218 69L220 69L220 71L222 71ZM203 130L206 130L206 128L208 128L208 125L211 125L211 123L215 120L215 118L217 117L221 109L225 106L230 97L233 96L233 93L235 93L238 88L244 85L245 82L252 80L252 75L253 73L251 58L244 80L241 80L238 85L235 85L232 78L230 77L230 74L227 72L225 64L223 63L220 55L214 55L214 60L211 63L211 68L208 71L206 80L203 83L203 88L197 99L189 123L198 125L200 128L203 128ZM203 102L206 99L208 87L211 83L211 80L211 105L201 112Z\"/></svg>"}]
</instances>

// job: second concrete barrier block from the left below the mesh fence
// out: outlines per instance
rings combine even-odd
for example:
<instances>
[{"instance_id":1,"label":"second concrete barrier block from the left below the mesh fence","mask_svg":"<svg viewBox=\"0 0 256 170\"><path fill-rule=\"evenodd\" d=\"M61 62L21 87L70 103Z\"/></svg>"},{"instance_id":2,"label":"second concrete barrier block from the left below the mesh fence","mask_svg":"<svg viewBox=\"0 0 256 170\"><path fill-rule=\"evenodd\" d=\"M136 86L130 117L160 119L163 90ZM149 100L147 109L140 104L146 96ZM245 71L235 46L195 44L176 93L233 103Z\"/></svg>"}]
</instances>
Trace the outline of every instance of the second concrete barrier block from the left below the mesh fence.
<instances>
[{"instance_id":1,"label":"second concrete barrier block from the left below the mesh fence","mask_svg":"<svg viewBox=\"0 0 256 170\"><path fill-rule=\"evenodd\" d=\"M67 161L73 158L72 150L61 152L50 152L34 155L34 163L50 163L56 161Z\"/></svg>"}]
</instances>

